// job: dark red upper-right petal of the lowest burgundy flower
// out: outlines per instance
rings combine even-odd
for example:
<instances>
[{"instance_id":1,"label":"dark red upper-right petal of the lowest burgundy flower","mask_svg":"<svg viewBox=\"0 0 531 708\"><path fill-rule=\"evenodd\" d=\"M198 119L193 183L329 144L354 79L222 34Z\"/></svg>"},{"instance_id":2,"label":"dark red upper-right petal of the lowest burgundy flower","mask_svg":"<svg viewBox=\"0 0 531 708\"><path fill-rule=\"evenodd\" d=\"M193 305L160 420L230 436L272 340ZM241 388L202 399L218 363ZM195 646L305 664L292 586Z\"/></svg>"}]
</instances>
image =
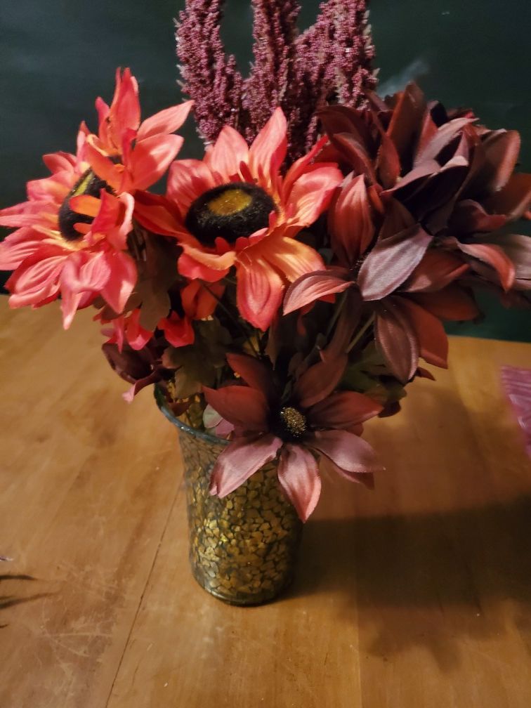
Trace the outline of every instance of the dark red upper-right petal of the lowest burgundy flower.
<instances>
[{"instance_id":1,"label":"dark red upper-right petal of the lowest burgundy flower","mask_svg":"<svg viewBox=\"0 0 531 708\"><path fill-rule=\"evenodd\" d=\"M324 401L307 411L309 423L316 428L341 428L346 430L368 421L382 411L382 406L369 396L353 391L330 394Z\"/></svg>"}]
</instances>

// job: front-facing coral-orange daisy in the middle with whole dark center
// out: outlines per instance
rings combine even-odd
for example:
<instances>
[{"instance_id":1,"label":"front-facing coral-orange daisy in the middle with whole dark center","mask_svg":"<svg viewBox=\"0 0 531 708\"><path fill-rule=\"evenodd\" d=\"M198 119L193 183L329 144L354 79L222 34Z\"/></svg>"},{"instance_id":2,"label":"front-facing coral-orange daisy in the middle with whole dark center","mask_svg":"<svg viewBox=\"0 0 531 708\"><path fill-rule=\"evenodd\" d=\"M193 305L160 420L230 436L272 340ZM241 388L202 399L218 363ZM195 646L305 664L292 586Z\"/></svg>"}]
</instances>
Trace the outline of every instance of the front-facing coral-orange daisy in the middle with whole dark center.
<instances>
[{"instance_id":1,"label":"front-facing coral-orange daisy in the middle with whole dark center","mask_svg":"<svg viewBox=\"0 0 531 708\"><path fill-rule=\"evenodd\" d=\"M286 130L280 108L251 147L224 127L203 161L173 163L166 199L139 198L135 212L148 229L176 236L181 275L217 282L235 266L239 312L263 330L286 283L324 267L295 236L326 210L342 179L335 164L312 164L326 140L282 177Z\"/></svg>"}]
</instances>

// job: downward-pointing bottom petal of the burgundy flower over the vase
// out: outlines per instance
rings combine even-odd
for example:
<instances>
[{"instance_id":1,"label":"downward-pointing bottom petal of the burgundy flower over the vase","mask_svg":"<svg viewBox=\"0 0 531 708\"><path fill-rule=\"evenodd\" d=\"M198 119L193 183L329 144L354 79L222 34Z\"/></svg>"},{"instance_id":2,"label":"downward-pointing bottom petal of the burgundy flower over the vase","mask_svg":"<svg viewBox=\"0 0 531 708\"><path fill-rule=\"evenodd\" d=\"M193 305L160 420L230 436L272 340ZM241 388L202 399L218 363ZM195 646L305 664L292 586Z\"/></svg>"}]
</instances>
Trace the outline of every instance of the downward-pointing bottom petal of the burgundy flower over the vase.
<instances>
[{"instance_id":1,"label":"downward-pointing bottom petal of the burgundy flower over the vase","mask_svg":"<svg viewBox=\"0 0 531 708\"><path fill-rule=\"evenodd\" d=\"M313 512L321 495L321 477L311 452L284 445L278 462L278 481L302 521Z\"/></svg>"}]
</instances>

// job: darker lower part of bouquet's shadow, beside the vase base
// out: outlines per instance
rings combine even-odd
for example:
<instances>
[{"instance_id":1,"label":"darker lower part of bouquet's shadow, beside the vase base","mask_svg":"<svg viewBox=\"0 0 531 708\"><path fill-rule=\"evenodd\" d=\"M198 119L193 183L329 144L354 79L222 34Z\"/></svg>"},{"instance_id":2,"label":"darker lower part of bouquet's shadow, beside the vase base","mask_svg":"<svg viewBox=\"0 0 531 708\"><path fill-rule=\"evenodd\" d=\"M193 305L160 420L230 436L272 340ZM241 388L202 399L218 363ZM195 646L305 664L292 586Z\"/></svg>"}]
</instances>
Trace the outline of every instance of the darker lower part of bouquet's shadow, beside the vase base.
<instances>
[{"instance_id":1,"label":"darker lower part of bouquet's shadow, beside the vase base","mask_svg":"<svg viewBox=\"0 0 531 708\"><path fill-rule=\"evenodd\" d=\"M356 610L360 651L382 661L420 645L451 670L462 635L506 632L498 605L507 600L531 646L530 538L531 496L455 513L316 520L286 597L332 597L346 622Z\"/></svg>"}]
</instances>

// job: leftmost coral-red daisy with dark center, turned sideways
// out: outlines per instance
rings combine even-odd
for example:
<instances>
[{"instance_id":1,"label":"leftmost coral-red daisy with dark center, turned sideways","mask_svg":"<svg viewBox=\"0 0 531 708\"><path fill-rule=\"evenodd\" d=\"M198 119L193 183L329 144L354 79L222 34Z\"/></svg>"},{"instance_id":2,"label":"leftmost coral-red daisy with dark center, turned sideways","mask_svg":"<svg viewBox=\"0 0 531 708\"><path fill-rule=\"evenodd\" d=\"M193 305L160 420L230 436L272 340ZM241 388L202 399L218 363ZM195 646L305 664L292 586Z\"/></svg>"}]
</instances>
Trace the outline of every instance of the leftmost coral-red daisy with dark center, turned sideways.
<instances>
[{"instance_id":1,"label":"leftmost coral-red daisy with dark center, turned sideways","mask_svg":"<svg viewBox=\"0 0 531 708\"><path fill-rule=\"evenodd\" d=\"M40 307L62 296L63 324L101 295L121 312L137 278L125 253L134 200L108 191L85 160L86 132L77 155L45 155L52 176L28 182L28 201L0 210L16 232L0 244L0 269L14 270L6 287L11 307Z\"/></svg>"}]
</instances>

